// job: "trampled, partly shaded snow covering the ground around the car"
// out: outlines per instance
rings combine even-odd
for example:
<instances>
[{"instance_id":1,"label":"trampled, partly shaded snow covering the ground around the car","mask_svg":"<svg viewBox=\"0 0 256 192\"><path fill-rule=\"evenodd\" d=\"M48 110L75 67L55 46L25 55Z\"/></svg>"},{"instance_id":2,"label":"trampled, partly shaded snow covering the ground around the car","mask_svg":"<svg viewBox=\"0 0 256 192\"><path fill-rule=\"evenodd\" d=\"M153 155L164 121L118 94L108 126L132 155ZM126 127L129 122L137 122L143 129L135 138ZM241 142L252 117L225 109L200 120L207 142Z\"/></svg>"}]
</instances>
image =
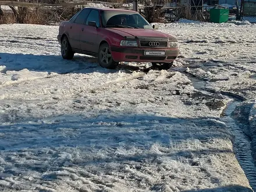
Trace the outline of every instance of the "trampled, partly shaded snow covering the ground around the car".
<instances>
[{"instance_id":1,"label":"trampled, partly shaded snow covering the ground around the car","mask_svg":"<svg viewBox=\"0 0 256 192\"><path fill-rule=\"evenodd\" d=\"M63 61L56 26L0 26L1 191L251 191L219 117L223 93L255 98L256 26L159 30L176 35L181 56L144 73Z\"/></svg>"}]
</instances>

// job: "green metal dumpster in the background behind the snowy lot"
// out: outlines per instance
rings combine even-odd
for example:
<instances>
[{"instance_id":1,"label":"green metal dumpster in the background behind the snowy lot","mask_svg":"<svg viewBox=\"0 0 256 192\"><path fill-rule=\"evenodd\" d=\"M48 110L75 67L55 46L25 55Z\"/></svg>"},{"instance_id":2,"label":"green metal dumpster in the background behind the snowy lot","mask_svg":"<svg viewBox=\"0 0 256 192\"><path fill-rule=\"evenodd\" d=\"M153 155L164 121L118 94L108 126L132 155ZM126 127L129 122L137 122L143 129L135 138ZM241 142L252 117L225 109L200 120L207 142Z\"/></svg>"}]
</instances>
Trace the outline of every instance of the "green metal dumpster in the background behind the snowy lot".
<instances>
[{"instance_id":1,"label":"green metal dumpster in the background behind the snowy lot","mask_svg":"<svg viewBox=\"0 0 256 192\"><path fill-rule=\"evenodd\" d=\"M214 23L224 23L229 20L229 9L210 9L210 20Z\"/></svg>"}]
</instances>

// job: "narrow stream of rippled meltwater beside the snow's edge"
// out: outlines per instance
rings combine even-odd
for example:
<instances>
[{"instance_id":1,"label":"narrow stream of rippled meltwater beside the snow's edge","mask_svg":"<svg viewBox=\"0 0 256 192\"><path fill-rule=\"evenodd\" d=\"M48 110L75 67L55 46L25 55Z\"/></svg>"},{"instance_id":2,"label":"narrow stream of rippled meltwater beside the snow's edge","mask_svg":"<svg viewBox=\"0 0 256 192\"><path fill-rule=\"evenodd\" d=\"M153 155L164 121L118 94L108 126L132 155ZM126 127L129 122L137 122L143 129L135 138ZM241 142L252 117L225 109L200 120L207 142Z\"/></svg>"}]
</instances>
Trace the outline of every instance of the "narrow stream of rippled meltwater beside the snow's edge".
<instances>
[{"instance_id":1,"label":"narrow stream of rippled meltwater beside the snow's edge","mask_svg":"<svg viewBox=\"0 0 256 192\"><path fill-rule=\"evenodd\" d=\"M231 102L225 109L225 116L221 119L226 123L231 133L235 136L233 143L234 154L241 168L243 168L251 187L256 191L256 167L253 157L251 156L251 142L250 138L243 133L235 120L230 117L236 106L240 104L239 101Z\"/></svg>"}]
</instances>

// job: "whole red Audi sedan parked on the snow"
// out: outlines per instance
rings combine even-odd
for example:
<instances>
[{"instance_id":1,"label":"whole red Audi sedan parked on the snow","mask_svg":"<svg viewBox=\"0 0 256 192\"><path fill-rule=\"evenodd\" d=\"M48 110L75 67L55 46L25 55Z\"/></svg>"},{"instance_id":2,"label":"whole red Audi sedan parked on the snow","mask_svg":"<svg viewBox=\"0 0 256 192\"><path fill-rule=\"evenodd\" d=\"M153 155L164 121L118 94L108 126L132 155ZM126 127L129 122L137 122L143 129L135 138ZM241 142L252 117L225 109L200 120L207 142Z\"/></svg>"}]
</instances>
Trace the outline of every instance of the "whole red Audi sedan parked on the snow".
<instances>
[{"instance_id":1,"label":"whole red Audi sedan parked on the snow","mask_svg":"<svg viewBox=\"0 0 256 192\"><path fill-rule=\"evenodd\" d=\"M151 62L169 69L179 55L175 37L157 31L133 10L84 8L59 26L63 59L74 53L96 56L102 67L119 62Z\"/></svg>"}]
</instances>

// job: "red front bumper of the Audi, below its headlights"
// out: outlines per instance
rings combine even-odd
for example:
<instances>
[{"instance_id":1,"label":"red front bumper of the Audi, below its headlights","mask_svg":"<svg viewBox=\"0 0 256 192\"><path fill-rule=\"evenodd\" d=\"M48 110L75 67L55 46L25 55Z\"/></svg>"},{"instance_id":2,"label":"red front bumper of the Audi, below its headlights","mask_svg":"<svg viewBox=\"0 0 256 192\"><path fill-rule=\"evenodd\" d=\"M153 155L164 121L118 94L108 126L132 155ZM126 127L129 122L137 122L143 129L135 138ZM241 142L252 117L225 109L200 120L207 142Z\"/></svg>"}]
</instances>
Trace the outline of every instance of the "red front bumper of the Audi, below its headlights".
<instances>
[{"instance_id":1,"label":"red front bumper of the Audi, below its headlights","mask_svg":"<svg viewBox=\"0 0 256 192\"><path fill-rule=\"evenodd\" d=\"M164 51L165 55L145 55L145 51ZM116 62L173 62L179 55L179 48L123 48L111 47L113 60Z\"/></svg>"}]
</instances>

